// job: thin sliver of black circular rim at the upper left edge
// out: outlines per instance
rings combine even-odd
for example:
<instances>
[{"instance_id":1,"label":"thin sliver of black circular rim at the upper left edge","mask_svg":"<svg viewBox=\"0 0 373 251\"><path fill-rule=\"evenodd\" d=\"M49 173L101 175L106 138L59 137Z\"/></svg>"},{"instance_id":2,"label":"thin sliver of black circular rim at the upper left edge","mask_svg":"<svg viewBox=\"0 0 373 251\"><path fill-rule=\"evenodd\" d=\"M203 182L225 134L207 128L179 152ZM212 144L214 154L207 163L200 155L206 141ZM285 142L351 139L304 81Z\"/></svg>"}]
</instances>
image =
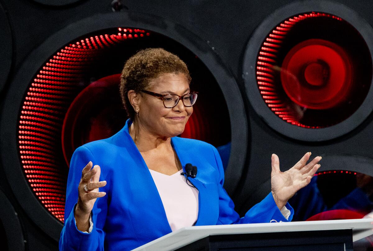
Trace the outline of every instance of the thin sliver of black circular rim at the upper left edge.
<instances>
[{"instance_id":1,"label":"thin sliver of black circular rim at the upper left edge","mask_svg":"<svg viewBox=\"0 0 373 251\"><path fill-rule=\"evenodd\" d=\"M13 59L13 37L12 29L8 20L7 12L4 10L3 6L0 3L0 31L3 33L0 36L1 46L1 72L0 75L0 92L4 89L4 86L7 82L10 68L12 66Z\"/></svg>"}]
</instances>

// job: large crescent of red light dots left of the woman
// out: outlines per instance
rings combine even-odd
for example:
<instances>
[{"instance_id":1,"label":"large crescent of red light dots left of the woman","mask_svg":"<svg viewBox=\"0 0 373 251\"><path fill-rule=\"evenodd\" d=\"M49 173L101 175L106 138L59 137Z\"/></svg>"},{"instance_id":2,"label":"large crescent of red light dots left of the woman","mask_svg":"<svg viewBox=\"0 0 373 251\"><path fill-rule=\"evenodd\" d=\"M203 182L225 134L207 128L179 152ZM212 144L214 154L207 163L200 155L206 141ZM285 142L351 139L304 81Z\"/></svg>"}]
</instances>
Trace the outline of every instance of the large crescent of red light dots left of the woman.
<instances>
[{"instance_id":1,"label":"large crescent of red light dots left of the woman","mask_svg":"<svg viewBox=\"0 0 373 251\"><path fill-rule=\"evenodd\" d=\"M66 177L60 151L62 123L81 89L79 81L107 48L126 39L149 36L140 29L118 28L117 34L90 36L62 48L35 76L24 98L19 120L20 161L35 196L64 221Z\"/></svg>"}]
</instances>

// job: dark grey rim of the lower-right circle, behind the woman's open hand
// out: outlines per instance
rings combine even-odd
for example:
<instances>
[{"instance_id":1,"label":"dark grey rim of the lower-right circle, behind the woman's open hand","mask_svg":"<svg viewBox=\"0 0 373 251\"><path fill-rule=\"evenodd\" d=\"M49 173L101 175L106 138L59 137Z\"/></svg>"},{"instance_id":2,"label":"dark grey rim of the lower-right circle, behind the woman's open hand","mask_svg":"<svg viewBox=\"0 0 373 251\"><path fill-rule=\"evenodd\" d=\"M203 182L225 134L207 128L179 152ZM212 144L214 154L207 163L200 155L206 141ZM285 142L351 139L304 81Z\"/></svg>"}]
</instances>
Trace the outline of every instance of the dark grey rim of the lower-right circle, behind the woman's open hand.
<instances>
[{"instance_id":1,"label":"dark grey rim of the lower-right circle, behind the woman's open hand","mask_svg":"<svg viewBox=\"0 0 373 251\"><path fill-rule=\"evenodd\" d=\"M317 170L316 173L324 171L354 171L367 174L373 177L373 159L353 154L321 154L319 155L323 158L322 165ZM354 166L353 169L349 168ZM267 179L258 188L251 193L251 196L247 198L244 202L242 208L248 208L249 204L254 204L262 198L266 197L271 191L271 179Z\"/></svg>"}]
</instances>

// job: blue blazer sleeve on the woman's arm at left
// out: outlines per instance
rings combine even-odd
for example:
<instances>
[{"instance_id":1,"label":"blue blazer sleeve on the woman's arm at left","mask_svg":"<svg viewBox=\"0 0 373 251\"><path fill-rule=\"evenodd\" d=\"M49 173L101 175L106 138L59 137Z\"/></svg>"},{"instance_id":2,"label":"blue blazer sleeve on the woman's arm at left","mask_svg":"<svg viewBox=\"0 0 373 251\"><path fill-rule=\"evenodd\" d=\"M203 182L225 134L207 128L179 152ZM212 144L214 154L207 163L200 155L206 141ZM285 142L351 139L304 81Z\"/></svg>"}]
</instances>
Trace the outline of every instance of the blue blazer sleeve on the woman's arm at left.
<instances>
[{"instance_id":1,"label":"blue blazer sleeve on the woman's arm at left","mask_svg":"<svg viewBox=\"0 0 373 251\"><path fill-rule=\"evenodd\" d=\"M76 228L74 210L78 201L78 185L82 177L82 169L89 161L93 166L97 165L91 151L85 147L78 147L72 155L70 169L66 187L66 204L65 204L65 224L62 228L59 250L104 250L105 232L101 229L106 219L106 210L98 209L98 200L107 200L108 194L102 198L97 198L91 212L93 220L93 229L91 233L81 232ZM101 177L100 177L101 180ZM101 190L102 191L102 190Z\"/></svg>"}]
</instances>

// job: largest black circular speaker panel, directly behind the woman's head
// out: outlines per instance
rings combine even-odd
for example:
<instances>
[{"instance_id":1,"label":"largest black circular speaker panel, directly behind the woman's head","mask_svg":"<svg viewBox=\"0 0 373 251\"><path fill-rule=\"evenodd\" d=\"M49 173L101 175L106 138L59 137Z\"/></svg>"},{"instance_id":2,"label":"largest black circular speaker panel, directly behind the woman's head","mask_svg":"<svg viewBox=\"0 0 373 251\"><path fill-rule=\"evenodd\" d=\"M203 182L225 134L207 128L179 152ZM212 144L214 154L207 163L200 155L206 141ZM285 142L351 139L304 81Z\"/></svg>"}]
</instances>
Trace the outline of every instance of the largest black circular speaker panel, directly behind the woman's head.
<instances>
[{"instance_id":1,"label":"largest black circular speaker panel, directly behind the woman's head","mask_svg":"<svg viewBox=\"0 0 373 251\"><path fill-rule=\"evenodd\" d=\"M178 54L195 73L191 88L200 92L200 101L182 136L215 145L231 140L226 190L232 192L238 184L247 150L247 118L237 83L216 53L198 36L167 19L130 12L93 16L52 35L29 55L1 112L1 159L13 192L29 217L56 240L62 229L71 153L82 143L117 130L115 123L97 123L101 118L110 121L110 112L95 109L93 98L102 93L98 102L116 104L113 93L119 79L115 74L126 58L146 47ZM203 95L208 92L210 96ZM119 98L119 90L117 94ZM209 98L221 102L209 102ZM84 121L93 123L84 125ZM103 127L112 131L90 133Z\"/></svg>"}]
</instances>

